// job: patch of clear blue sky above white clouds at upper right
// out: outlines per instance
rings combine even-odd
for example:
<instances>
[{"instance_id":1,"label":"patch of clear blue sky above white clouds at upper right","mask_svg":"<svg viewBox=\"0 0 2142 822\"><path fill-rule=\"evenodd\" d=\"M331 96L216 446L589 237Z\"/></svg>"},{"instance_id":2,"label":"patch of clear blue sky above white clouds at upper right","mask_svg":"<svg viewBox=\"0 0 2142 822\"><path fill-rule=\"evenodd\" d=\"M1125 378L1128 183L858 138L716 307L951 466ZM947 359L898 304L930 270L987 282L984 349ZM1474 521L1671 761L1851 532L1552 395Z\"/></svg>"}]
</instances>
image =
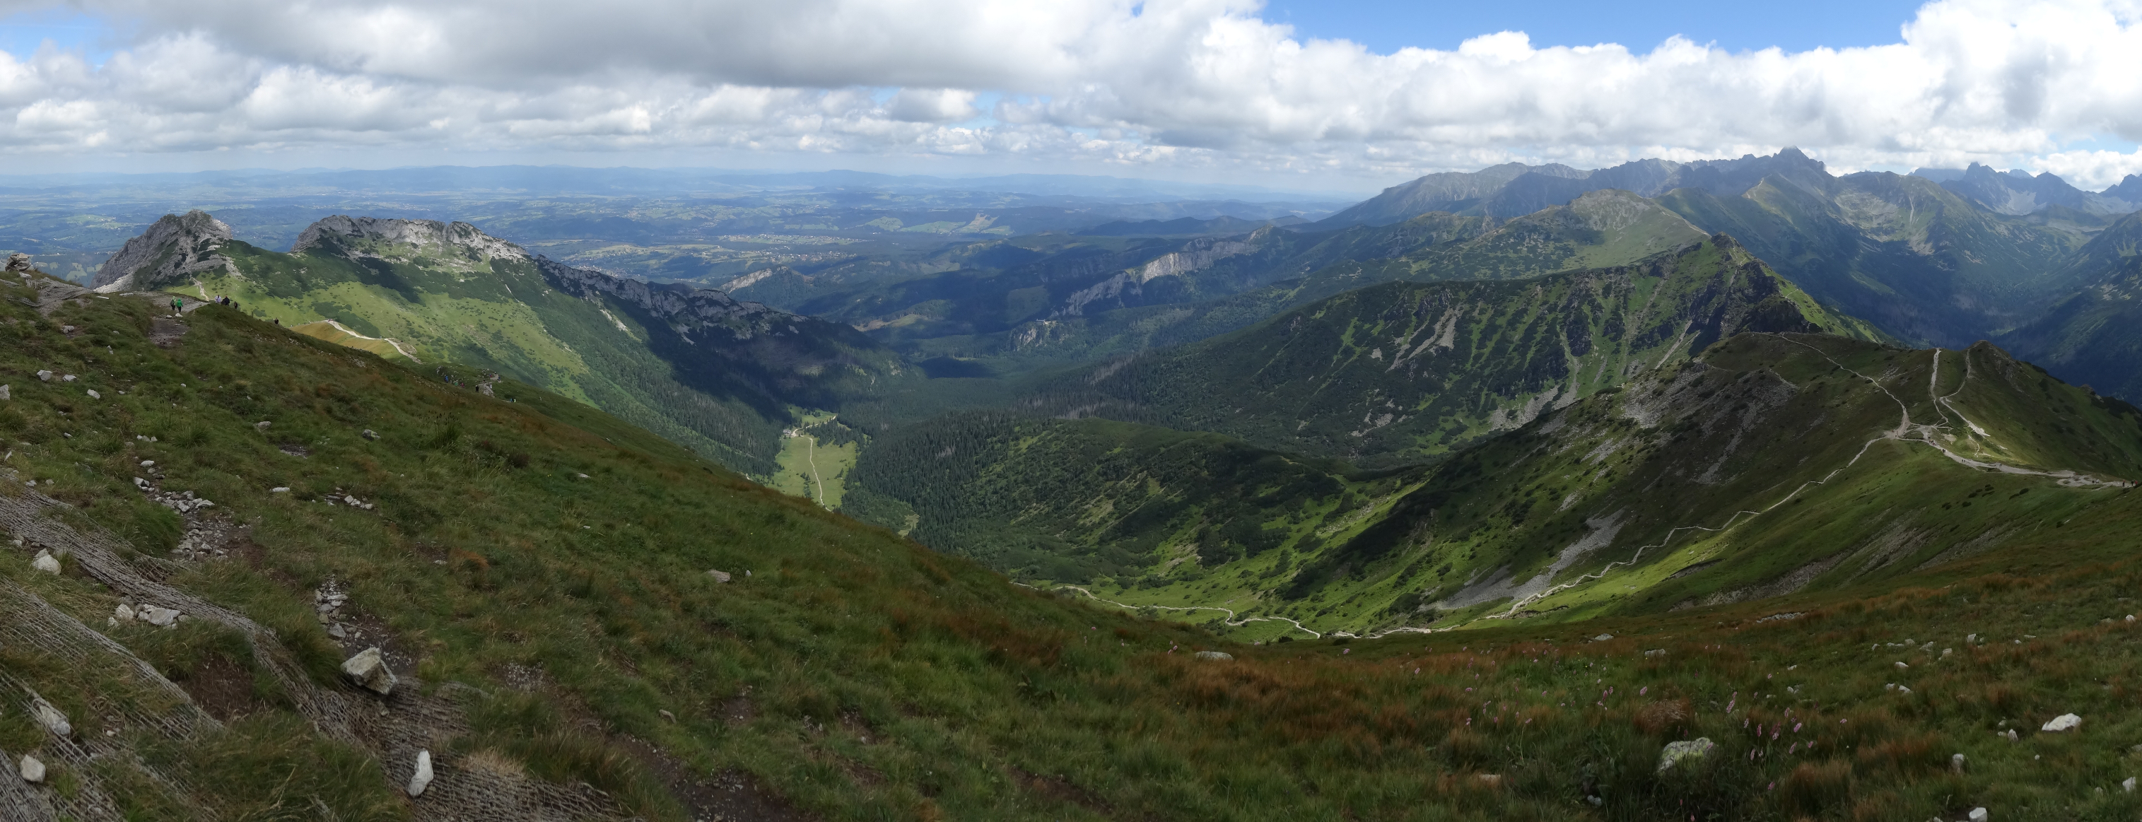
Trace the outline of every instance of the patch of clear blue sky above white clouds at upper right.
<instances>
[{"instance_id":1,"label":"patch of clear blue sky above white clouds at upper right","mask_svg":"<svg viewBox=\"0 0 2142 822\"><path fill-rule=\"evenodd\" d=\"M1621 43L1649 51L1673 34L1733 51L1782 47L1853 47L1900 43L1900 28L1919 11L1898 0L1804 2L1407 2L1407 0L1274 0L1264 19L1292 24L1298 36L1347 39L1371 51L1403 47L1454 49L1469 36L1517 30L1534 47Z\"/></svg>"}]
</instances>

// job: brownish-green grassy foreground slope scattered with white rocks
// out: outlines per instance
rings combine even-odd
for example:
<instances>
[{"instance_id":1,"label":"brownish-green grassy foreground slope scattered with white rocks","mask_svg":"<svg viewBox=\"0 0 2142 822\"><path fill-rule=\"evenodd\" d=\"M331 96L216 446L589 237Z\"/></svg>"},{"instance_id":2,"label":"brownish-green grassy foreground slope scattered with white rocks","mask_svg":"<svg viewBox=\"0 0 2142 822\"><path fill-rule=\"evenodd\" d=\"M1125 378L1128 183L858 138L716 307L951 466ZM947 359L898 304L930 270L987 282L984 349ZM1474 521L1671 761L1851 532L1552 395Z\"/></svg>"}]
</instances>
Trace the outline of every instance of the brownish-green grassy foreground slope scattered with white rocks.
<instances>
[{"instance_id":1,"label":"brownish-green grassy foreground slope scattered with white rocks","mask_svg":"<svg viewBox=\"0 0 2142 822\"><path fill-rule=\"evenodd\" d=\"M169 321L135 298L77 298L49 280L0 289L0 381L13 390L0 428L15 441L0 524L30 537L0 548L11 559L0 674L75 721L54 736L26 719L28 691L6 691L0 751L54 764L49 786L0 788L9 809L60 803L90 820L2142 811L2116 790L2142 732L2123 711L2142 646L2127 623L2097 625L2142 584L2131 559L2112 557L2131 550L2114 539L2131 537L2131 497L1945 565L1932 584L1947 589L1234 646L1007 587L536 387L495 383L488 398L218 306ZM77 381L39 381L39 368ZM152 505L133 475L216 507ZM375 507L330 505L336 490ZM28 567L43 542L66 554L62 574ZM707 567L756 574L722 584ZM315 619L323 584L349 597L332 621L362 640L336 642ZM105 627L122 595L201 604L176 629ZM1799 619L1765 619L1780 608ZM240 614L261 631L233 627L253 625ZM1621 638L1585 644L1600 631ZM1964 631L1998 644L1964 644ZM1900 649L1902 638L1960 653ZM383 642L418 681L392 700L341 683L334 666L364 642ZM1236 659L1189 655L1204 646ZM1898 659L1913 670L1894 672ZM186 704L212 724L137 721ZM2065 711L2086 717L2084 732L2031 732ZM2022 741L1994 739L2005 728ZM1660 775L1660 747L1694 736L1720 751ZM405 798L418 745L437 779ZM1951 751L1968 756L1964 775L1945 771Z\"/></svg>"}]
</instances>

